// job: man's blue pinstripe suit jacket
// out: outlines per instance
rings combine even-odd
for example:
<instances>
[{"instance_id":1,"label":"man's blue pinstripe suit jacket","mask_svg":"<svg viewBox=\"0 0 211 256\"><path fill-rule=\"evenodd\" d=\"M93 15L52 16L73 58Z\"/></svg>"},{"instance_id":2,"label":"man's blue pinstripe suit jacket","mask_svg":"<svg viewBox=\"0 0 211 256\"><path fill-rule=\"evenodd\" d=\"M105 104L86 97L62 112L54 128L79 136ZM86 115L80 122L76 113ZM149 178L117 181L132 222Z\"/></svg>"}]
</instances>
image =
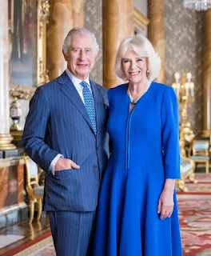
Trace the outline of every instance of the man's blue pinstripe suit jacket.
<instances>
[{"instance_id":1,"label":"man's blue pinstripe suit jacket","mask_svg":"<svg viewBox=\"0 0 211 256\"><path fill-rule=\"evenodd\" d=\"M94 134L86 107L66 71L38 87L22 135L26 154L46 170L44 210L93 211L109 156L107 90L90 80L96 110ZM63 154L80 167L55 175L50 162Z\"/></svg>"}]
</instances>

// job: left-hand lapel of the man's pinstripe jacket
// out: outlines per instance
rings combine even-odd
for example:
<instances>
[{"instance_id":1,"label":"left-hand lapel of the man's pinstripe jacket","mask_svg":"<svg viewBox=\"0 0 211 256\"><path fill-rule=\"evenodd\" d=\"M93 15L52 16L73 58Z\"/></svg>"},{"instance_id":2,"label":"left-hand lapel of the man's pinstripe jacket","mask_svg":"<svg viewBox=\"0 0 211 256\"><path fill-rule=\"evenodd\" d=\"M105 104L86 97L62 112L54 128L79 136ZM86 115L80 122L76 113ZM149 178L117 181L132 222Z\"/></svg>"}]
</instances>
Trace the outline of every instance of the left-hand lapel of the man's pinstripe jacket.
<instances>
[{"instance_id":1,"label":"left-hand lapel of the man's pinstripe jacket","mask_svg":"<svg viewBox=\"0 0 211 256\"><path fill-rule=\"evenodd\" d=\"M85 118L86 122L89 124L91 129L93 130L89 114L86 111L86 107L82 102L82 98L78 94L73 82L70 80L66 71L58 78L58 82L62 84L60 90L62 93L66 95L67 98L70 99L70 102L74 104L74 106L78 109L78 111L82 114L83 118ZM94 131L94 130L93 130Z\"/></svg>"}]
</instances>

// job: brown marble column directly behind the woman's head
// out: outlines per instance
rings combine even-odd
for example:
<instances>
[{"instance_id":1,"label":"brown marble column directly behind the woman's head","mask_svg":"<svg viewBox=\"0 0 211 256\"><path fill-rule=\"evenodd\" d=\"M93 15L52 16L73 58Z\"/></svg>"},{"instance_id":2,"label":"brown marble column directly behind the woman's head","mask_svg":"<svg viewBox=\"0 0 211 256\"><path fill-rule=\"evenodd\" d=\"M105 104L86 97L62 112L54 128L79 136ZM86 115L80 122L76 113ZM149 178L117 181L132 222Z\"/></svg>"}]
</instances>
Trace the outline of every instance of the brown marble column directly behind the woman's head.
<instances>
[{"instance_id":1,"label":"brown marble column directly behind the woman's head","mask_svg":"<svg viewBox=\"0 0 211 256\"><path fill-rule=\"evenodd\" d=\"M133 30L133 0L103 0L103 86L108 89L123 82L113 73L114 60Z\"/></svg>"}]
</instances>

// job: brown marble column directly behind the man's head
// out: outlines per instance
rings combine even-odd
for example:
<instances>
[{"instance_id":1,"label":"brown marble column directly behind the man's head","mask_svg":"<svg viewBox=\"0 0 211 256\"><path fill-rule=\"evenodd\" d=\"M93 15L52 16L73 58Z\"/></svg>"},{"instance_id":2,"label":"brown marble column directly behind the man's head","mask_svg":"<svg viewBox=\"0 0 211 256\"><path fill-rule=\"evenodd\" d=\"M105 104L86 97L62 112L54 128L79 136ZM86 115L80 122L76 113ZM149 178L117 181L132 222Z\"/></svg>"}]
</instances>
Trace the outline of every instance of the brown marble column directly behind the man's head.
<instances>
[{"instance_id":1,"label":"brown marble column directly behind the man's head","mask_svg":"<svg viewBox=\"0 0 211 256\"><path fill-rule=\"evenodd\" d=\"M83 0L51 0L46 38L46 66L50 80L66 70L62 45L75 26L83 26Z\"/></svg>"}]
</instances>

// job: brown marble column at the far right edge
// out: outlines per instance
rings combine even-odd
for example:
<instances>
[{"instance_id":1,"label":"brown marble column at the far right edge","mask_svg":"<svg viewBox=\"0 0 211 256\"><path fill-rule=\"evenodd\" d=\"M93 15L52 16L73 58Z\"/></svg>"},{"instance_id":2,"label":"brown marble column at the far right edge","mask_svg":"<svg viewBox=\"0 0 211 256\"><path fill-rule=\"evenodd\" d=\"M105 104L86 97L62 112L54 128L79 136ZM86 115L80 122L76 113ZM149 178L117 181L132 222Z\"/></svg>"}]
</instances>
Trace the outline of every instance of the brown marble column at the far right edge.
<instances>
[{"instance_id":1,"label":"brown marble column at the far right edge","mask_svg":"<svg viewBox=\"0 0 211 256\"><path fill-rule=\"evenodd\" d=\"M202 136L211 136L211 9L205 11Z\"/></svg>"}]
</instances>

